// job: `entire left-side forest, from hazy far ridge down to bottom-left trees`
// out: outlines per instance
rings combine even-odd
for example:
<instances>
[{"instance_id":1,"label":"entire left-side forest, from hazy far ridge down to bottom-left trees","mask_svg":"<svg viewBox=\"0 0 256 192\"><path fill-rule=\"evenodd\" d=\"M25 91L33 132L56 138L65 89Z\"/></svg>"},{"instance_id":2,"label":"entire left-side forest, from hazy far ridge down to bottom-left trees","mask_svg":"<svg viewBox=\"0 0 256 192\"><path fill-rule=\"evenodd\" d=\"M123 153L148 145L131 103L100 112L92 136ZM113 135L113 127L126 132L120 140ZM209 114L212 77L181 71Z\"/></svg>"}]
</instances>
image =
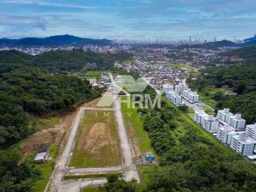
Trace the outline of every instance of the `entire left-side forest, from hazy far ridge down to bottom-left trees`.
<instances>
[{"instance_id":1,"label":"entire left-side forest, from hazy far ridge down to bottom-left trees","mask_svg":"<svg viewBox=\"0 0 256 192\"><path fill-rule=\"evenodd\" d=\"M65 72L79 71L86 62L111 68L130 54L98 54L81 49L31 56L14 50L0 52L0 192L27 192L40 171L23 162L12 144L36 132L35 116L56 114L100 96L88 81Z\"/></svg>"}]
</instances>

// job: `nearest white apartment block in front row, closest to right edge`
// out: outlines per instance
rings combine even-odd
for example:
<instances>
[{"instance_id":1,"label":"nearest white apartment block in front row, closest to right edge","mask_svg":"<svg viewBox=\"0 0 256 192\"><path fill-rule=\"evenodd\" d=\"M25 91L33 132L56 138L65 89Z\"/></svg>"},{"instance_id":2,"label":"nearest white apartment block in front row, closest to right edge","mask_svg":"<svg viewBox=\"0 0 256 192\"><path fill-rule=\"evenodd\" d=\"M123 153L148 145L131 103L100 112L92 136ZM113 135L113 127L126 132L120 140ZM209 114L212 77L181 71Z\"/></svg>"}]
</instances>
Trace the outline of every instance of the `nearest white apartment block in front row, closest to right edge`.
<instances>
[{"instance_id":1,"label":"nearest white apartment block in front row, closest to right edge","mask_svg":"<svg viewBox=\"0 0 256 192\"><path fill-rule=\"evenodd\" d=\"M247 138L246 134L233 135L230 141L230 147L244 155L252 155L254 153L255 144Z\"/></svg>"}]
</instances>

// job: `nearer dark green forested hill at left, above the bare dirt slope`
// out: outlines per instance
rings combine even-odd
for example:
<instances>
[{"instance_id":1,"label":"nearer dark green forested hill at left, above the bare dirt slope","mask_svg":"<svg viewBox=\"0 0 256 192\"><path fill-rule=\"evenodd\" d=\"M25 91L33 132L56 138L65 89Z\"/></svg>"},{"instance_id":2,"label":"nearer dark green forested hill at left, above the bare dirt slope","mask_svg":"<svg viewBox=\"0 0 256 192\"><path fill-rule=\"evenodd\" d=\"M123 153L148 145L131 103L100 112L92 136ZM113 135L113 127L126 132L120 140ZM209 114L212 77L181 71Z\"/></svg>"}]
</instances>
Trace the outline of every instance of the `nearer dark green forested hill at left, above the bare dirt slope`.
<instances>
[{"instance_id":1,"label":"nearer dark green forested hill at left, above the bare dirt slope","mask_svg":"<svg viewBox=\"0 0 256 192\"><path fill-rule=\"evenodd\" d=\"M0 75L1 148L35 131L28 126L28 114L62 111L99 95L74 76L43 74L30 68Z\"/></svg>"}]
</instances>

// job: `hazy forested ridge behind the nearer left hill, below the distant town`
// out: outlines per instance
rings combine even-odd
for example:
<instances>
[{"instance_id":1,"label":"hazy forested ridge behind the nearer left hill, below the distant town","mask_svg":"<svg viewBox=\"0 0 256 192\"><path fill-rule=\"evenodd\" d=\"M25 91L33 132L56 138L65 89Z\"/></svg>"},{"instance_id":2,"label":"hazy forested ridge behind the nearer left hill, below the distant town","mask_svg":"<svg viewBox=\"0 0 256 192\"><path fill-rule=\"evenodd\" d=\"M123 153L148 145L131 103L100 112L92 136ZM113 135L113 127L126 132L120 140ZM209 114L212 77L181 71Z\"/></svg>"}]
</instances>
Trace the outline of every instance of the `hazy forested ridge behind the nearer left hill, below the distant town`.
<instances>
[{"instance_id":1,"label":"hazy forested ridge behind the nearer left hill, below the distant town","mask_svg":"<svg viewBox=\"0 0 256 192\"><path fill-rule=\"evenodd\" d=\"M111 68L116 60L125 60L130 57L132 55L126 52L101 54L83 49L49 51L36 56L15 50L1 51L0 73L10 72L24 66L39 67L51 73L73 72L84 68L87 62L95 62L97 67L94 69L106 70Z\"/></svg>"}]
</instances>

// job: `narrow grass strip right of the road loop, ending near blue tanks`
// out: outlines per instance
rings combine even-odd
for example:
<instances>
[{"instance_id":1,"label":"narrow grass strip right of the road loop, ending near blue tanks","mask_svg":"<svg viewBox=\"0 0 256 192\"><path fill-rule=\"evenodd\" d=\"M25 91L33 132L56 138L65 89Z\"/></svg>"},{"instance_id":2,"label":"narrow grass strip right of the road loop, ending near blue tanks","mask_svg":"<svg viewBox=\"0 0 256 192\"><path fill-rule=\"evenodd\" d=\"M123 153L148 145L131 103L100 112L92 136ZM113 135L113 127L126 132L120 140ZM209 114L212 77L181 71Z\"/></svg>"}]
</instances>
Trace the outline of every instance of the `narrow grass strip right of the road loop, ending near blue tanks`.
<instances>
[{"instance_id":1,"label":"narrow grass strip right of the road loop, ending near blue tanks","mask_svg":"<svg viewBox=\"0 0 256 192\"><path fill-rule=\"evenodd\" d=\"M127 100L131 102L130 96L121 97L122 100ZM132 140L132 146L138 158L140 154L155 154L154 149L151 146L151 140L148 136L148 132L143 129L143 124L138 116L137 110L134 108L128 108L126 103L121 103L122 112L124 114L124 120L128 133Z\"/></svg>"}]
</instances>

